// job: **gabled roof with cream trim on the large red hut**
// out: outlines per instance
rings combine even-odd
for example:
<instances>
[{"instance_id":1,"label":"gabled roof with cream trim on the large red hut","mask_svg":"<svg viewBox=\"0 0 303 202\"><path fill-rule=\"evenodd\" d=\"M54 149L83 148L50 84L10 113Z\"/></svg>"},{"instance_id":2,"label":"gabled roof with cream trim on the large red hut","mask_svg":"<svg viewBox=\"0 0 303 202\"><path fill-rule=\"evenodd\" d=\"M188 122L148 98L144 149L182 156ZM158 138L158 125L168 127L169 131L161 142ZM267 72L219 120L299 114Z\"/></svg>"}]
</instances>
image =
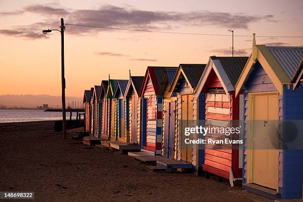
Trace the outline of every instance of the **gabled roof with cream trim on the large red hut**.
<instances>
[{"instance_id":1,"label":"gabled roof with cream trim on the large red hut","mask_svg":"<svg viewBox=\"0 0 303 202\"><path fill-rule=\"evenodd\" d=\"M214 71L226 94L235 91L235 85L249 57L210 56L199 80L195 94L200 94L207 85L207 79Z\"/></svg>"}]
</instances>

